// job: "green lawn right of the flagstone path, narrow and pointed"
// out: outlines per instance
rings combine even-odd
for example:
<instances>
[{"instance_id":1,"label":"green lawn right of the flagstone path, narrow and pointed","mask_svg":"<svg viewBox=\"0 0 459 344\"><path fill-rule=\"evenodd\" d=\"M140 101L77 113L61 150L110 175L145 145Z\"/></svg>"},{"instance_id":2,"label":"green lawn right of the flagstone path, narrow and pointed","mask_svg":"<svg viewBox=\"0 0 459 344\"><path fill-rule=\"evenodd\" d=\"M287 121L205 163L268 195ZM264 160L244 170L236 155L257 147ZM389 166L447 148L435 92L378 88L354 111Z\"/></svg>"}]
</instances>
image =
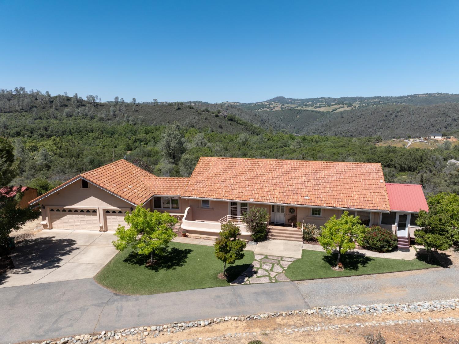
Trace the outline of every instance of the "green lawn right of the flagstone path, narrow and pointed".
<instances>
[{"instance_id":1,"label":"green lawn right of the flagstone path, narrow and pointed","mask_svg":"<svg viewBox=\"0 0 459 344\"><path fill-rule=\"evenodd\" d=\"M397 272L419 270L438 267L437 264L427 264L422 259L413 260L373 258L354 254L341 254L343 271L334 271L331 266L336 265L336 254L303 250L301 259L295 260L285 271L285 276L292 281L310 280L316 278L344 277L356 275L378 274L383 272Z\"/></svg>"}]
</instances>

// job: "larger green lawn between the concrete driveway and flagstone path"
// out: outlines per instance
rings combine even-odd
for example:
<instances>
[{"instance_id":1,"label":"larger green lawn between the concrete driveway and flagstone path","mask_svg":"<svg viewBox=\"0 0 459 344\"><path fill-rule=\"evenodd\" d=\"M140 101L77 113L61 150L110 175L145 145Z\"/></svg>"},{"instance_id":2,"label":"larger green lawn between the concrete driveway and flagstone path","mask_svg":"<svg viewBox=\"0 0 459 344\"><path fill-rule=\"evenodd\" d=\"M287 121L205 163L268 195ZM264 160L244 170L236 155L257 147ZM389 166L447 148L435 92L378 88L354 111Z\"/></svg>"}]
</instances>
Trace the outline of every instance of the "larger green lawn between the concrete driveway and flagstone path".
<instances>
[{"instance_id":1,"label":"larger green lawn between the concrete driveway and flagstone path","mask_svg":"<svg viewBox=\"0 0 459 344\"><path fill-rule=\"evenodd\" d=\"M223 263L215 257L213 246L171 242L169 252L154 267L146 267L149 257L129 250L119 252L94 277L115 293L145 295L180 290L229 286L253 262L253 252L244 251L244 259L227 265L229 277L220 280Z\"/></svg>"}]
</instances>

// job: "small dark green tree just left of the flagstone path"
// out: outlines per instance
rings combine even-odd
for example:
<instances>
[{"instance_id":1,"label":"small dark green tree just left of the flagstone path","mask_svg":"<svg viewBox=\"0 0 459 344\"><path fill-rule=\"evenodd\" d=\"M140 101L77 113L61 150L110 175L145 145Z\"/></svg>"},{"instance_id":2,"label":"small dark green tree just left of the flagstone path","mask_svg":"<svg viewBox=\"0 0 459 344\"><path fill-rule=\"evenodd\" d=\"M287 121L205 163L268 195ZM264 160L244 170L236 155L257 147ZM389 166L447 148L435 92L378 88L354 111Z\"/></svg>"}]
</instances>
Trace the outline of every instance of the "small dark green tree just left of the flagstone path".
<instances>
[{"instance_id":1,"label":"small dark green tree just left of the flagstone path","mask_svg":"<svg viewBox=\"0 0 459 344\"><path fill-rule=\"evenodd\" d=\"M223 265L223 275L226 276L226 264L234 264L236 260L244 258L244 248L247 243L238 239L241 230L232 222L222 223L220 236L213 244L215 256L221 260Z\"/></svg>"}]
</instances>

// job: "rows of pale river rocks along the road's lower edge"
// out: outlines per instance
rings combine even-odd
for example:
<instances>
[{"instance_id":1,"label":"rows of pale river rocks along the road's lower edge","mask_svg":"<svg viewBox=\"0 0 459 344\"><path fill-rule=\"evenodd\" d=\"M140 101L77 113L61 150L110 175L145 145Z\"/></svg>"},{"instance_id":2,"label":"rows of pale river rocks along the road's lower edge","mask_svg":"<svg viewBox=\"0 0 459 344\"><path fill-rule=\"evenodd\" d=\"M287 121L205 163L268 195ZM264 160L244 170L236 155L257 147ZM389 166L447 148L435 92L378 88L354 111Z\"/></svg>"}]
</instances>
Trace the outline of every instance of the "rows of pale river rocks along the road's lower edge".
<instances>
[{"instance_id":1,"label":"rows of pale river rocks along the road's lower edge","mask_svg":"<svg viewBox=\"0 0 459 344\"><path fill-rule=\"evenodd\" d=\"M137 336L140 340L146 338L147 336L158 337L161 333L177 333L184 331L186 328L190 327L205 327L212 325L213 323L218 324L219 322L224 321L250 321L257 320L269 317L278 317L278 316L291 316L297 314L304 315L319 315L319 316L335 316L335 317L345 317L345 316L362 316L362 315L373 315L378 316L383 313L430 313L430 312L442 312L445 310L455 310L459 308L459 299L451 299L444 301L423 301L423 302L414 302L414 303L394 303L394 304L374 304L374 305L353 305L353 306L329 306L329 307L314 307L307 310L291 310L285 312L275 312L275 313L263 313L263 314L253 314L246 316L225 316L214 319L205 319L198 321L187 321L187 322L178 322L175 321L169 324L157 325L157 326L147 326L147 327L135 327L128 329L120 329L113 331L102 331L100 334L81 334L72 337L65 337L61 340L45 340L43 342L34 342L32 344L87 344L87 343L103 343L107 340L119 340L126 337ZM414 319L414 320L395 320L395 321L371 321L365 323L355 323L355 324L345 324L345 325L336 325L336 326L325 326L321 327L304 327L297 329L284 329L285 333L293 332L304 332L304 331L319 331L320 329L336 329L340 327L364 327L364 326L385 326L385 325L395 325L397 323L418 323L426 321L439 321L439 322L453 322L458 323L459 318L440 318L432 319L429 317L429 320ZM276 330L283 331L283 330ZM273 332L273 331L271 331ZM282 332L281 332L282 333ZM216 337L224 338L224 337Z\"/></svg>"}]
</instances>

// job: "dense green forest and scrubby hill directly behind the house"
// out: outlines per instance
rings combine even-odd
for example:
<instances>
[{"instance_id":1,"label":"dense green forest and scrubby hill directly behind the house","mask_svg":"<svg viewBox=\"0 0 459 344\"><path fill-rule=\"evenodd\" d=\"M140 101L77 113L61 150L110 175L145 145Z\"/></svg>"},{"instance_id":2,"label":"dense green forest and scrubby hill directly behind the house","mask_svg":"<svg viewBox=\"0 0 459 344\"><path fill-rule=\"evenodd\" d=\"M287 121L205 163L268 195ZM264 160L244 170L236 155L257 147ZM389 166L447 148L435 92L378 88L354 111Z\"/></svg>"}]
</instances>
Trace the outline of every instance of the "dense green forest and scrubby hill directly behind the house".
<instances>
[{"instance_id":1,"label":"dense green forest and scrubby hill directly behind the house","mask_svg":"<svg viewBox=\"0 0 459 344\"><path fill-rule=\"evenodd\" d=\"M435 149L405 149L377 147L378 137L293 135L249 123L230 109L180 102L109 104L95 96L30 92L13 94L9 102L1 105L0 136L13 142L20 162L15 183L41 192L123 157L156 175L189 176L200 156L222 156L380 162L388 182L459 193L458 166L447 164L459 160L459 146L449 141Z\"/></svg>"}]
</instances>

